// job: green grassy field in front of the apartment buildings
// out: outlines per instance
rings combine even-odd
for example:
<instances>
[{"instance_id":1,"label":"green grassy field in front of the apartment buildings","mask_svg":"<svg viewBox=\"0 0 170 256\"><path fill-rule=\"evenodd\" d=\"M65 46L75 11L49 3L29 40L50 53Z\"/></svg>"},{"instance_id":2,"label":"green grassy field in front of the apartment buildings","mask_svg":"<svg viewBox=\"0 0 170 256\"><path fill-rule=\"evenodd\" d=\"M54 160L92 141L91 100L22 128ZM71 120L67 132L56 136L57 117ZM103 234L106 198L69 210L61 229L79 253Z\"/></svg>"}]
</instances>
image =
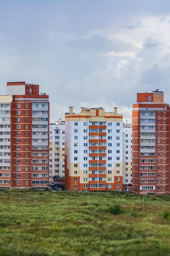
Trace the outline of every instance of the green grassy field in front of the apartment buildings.
<instances>
[{"instance_id":1,"label":"green grassy field in front of the apartment buildings","mask_svg":"<svg viewBox=\"0 0 170 256\"><path fill-rule=\"evenodd\" d=\"M170 195L0 193L0 256L170 255Z\"/></svg>"}]
</instances>

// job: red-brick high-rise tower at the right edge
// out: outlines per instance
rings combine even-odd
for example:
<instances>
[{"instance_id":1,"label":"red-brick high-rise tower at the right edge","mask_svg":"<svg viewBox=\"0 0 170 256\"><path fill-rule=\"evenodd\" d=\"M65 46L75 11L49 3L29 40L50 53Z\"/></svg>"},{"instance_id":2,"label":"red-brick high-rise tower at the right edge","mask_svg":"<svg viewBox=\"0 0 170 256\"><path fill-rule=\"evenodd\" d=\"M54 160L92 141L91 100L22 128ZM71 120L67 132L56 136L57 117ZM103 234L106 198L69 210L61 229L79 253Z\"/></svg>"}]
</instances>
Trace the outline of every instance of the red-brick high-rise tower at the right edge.
<instances>
[{"instance_id":1,"label":"red-brick high-rise tower at the right edge","mask_svg":"<svg viewBox=\"0 0 170 256\"><path fill-rule=\"evenodd\" d=\"M132 111L133 193L170 193L169 117L163 92L137 94Z\"/></svg>"}]
</instances>

